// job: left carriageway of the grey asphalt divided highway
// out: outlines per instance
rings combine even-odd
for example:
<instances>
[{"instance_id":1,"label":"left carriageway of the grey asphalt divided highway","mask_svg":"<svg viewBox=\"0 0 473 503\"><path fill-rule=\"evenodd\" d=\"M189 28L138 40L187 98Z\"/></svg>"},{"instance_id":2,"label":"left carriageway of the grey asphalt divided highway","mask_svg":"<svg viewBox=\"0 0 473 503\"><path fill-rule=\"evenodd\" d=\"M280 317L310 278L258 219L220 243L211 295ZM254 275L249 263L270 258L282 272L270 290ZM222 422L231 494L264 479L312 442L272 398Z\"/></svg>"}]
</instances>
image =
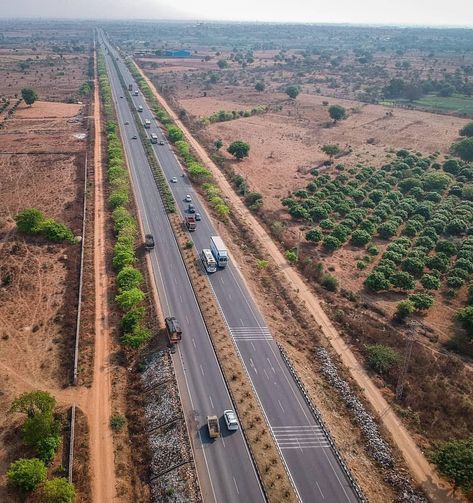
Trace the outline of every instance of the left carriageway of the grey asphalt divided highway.
<instances>
[{"instance_id":1,"label":"left carriageway of the grey asphalt divided highway","mask_svg":"<svg viewBox=\"0 0 473 503\"><path fill-rule=\"evenodd\" d=\"M133 116L127 101L120 98L123 91L113 63L109 56L106 60L142 224L145 233L156 239L150 258L160 302L164 315L175 316L183 330L174 363L204 500L264 502L241 431L230 434L221 420L222 438L208 437L206 416L220 417L233 405L143 146L139 139L131 139L138 134Z\"/></svg>"}]
</instances>

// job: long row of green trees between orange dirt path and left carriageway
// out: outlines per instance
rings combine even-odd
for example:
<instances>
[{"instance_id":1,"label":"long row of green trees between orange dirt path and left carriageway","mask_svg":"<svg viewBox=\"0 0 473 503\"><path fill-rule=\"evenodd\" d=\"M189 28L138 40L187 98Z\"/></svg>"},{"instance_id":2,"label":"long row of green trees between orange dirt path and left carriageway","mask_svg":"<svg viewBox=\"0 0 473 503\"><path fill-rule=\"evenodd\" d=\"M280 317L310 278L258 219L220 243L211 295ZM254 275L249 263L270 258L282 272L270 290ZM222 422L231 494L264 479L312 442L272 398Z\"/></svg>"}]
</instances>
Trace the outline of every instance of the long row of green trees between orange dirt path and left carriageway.
<instances>
[{"instance_id":1,"label":"long row of green trees between orange dirt path and left carriageway","mask_svg":"<svg viewBox=\"0 0 473 503\"><path fill-rule=\"evenodd\" d=\"M128 209L131 197L130 182L118 134L118 125L115 121L105 58L102 53L99 53L97 58L97 70L103 108L107 119L107 178L111 189L108 204L112 209L113 229L116 237L112 259L113 268L117 272L118 293L115 301L123 312L121 341L128 347L138 348L151 338L151 332L144 322L146 311L142 304L146 295L141 289L143 276L135 267L137 262L135 242L138 228L136 219Z\"/></svg>"}]
</instances>

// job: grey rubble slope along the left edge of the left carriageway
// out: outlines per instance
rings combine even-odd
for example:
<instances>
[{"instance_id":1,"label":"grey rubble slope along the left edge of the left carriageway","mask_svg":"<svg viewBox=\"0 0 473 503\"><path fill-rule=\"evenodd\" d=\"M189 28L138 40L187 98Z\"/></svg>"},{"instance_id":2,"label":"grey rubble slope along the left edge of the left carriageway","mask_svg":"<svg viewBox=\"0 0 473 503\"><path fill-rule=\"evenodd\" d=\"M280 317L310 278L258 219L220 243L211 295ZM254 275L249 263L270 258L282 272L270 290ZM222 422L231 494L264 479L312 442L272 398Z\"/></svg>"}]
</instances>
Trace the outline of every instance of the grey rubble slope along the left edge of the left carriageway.
<instances>
[{"instance_id":1,"label":"grey rubble slope along the left edge of the left carriageway","mask_svg":"<svg viewBox=\"0 0 473 503\"><path fill-rule=\"evenodd\" d=\"M151 448L153 501L201 502L192 451L168 351L155 353L142 373Z\"/></svg>"}]
</instances>

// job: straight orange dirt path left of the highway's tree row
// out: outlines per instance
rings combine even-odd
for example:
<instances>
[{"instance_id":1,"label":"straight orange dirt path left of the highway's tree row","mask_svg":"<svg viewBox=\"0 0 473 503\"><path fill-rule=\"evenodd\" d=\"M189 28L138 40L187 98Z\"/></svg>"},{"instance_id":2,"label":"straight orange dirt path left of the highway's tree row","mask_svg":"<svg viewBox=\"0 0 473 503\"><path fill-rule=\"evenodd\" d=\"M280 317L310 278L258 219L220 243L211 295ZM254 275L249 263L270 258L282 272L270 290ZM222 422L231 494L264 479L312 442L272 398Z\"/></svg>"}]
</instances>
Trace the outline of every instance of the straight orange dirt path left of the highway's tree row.
<instances>
[{"instance_id":1,"label":"straight orange dirt path left of the highway's tree row","mask_svg":"<svg viewBox=\"0 0 473 503\"><path fill-rule=\"evenodd\" d=\"M94 166L95 166L95 358L90 392L88 420L90 429L90 476L94 502L111 502L115 498L115 470L111 414L110 330L108 324L107 271L105 264L105 208L102 169L102 124L100 120L99 83L94 91Z\"/></svg>"}]
</instances>

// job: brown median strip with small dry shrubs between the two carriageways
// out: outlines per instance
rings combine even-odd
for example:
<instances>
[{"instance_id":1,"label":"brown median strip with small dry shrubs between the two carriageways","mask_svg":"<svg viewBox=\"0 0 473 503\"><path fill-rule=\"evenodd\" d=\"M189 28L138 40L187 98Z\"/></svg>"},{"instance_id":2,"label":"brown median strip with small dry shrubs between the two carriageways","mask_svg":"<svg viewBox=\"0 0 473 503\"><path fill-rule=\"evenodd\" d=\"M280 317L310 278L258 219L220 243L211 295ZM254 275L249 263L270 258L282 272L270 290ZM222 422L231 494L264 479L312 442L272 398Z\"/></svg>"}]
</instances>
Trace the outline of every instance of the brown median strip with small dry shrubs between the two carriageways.
<instances>
[{"instance_id":1,"label":"brown median strip with small dry shrubs between the two carriageways","mask_svg":"<svg viewBox=\"0 0 473 503\"><path fill-rule=\"evenodd\" d=\"M225 382L238 412L264 491L270 502L298 501L249 377L202 273L197 253L188 246L189 235L178 215L169 215L202 316L210 334Z\"/></svg>"}]
</instances>

